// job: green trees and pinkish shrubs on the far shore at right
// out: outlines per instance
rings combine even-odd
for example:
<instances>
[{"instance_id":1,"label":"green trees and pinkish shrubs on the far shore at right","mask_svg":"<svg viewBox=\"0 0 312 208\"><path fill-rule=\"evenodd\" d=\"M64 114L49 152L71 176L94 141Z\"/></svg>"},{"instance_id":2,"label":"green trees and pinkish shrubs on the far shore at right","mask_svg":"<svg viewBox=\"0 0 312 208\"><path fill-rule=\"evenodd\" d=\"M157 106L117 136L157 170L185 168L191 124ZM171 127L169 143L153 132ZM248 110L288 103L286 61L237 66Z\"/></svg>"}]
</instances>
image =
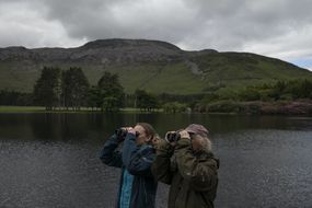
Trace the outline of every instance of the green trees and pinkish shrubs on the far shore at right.
<instances>
[{"instance_id":1,"label":"green trees and pinkish shrubs on the far shore at right","mask_svg":"<svg viewBox=\"0 0 312 208\"><path fill-rule=\"evenodd\" d=\"M281 114L284 111L287 114L287 111L296 112L296 108L298 108L298 113L300 113L302 108L305 108L302 112L312 114L312 109L310 109L311 100L311 80L279 80L249 85L238 91L231 91L231 93L207 93L196 103L193 109L209 113L243 114ZM294 102L297 104L293 104ZM285 108L285 106L287 107Z\"/></svg>"}]
</instances>

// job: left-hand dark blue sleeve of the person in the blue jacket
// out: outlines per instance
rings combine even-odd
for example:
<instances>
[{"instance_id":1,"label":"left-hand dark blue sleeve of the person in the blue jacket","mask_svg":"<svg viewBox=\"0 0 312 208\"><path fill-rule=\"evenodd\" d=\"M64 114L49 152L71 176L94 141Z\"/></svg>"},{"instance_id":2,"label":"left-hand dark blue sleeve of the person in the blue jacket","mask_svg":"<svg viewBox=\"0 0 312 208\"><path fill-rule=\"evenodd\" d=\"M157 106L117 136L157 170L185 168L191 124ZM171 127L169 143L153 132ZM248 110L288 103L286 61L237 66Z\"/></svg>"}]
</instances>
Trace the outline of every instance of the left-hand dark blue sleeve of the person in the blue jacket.
<instances>
[{"instance_id":1,"label":"left-hand dark blue sleeve of the person in the blue jacket","mask_svg":"<svg viewBox=\"0 0 312 208\"><path fill-rule=\"evenodd\" d=\"M118 148L118 140L116 135L113 135L104 145L100 159L104 164L107 164L108 166L116 166L122 167L123 166L123 160L122 160L122 153L117 151Z\"/></svg>"}]
</instances>

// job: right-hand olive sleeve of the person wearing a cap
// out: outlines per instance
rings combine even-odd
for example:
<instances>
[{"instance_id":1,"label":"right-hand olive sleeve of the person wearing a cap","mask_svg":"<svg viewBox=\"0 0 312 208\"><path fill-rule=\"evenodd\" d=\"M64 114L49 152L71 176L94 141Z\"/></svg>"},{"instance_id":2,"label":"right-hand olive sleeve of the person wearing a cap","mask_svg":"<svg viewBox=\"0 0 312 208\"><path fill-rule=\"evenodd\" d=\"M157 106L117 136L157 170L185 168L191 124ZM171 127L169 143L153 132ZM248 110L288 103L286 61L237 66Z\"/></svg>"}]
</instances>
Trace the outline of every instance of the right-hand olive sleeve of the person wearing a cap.
<instances>
[{"instance_id":1,"label":"right-hand olive sleeve of the person wearing a cap","mask_svg":"<svg viewBox=\"0 0 312 208\"><path fill-rule=\"evenodd\" d=\"M196 192L208 192L218 184L218 162L211 157L196 157L189 139L181 139L178 143L189 143L188 147L176 150L176 163L181 175L188 181L189 187ZM201 152L207 154L207 152Z\"/></svg>"}]
</instances>

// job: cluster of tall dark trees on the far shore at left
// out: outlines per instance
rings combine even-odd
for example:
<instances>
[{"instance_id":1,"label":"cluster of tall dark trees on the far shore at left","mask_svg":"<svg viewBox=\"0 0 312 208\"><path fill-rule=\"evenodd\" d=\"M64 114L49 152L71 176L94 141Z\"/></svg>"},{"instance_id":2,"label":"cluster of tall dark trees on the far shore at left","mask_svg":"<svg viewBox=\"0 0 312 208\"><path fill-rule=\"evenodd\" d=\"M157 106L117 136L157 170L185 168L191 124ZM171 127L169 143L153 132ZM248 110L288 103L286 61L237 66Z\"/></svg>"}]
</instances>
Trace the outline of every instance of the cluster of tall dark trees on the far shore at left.
<instances>
[{"instance_id":1,"label":"cluster of tall dark trees on the far shore at left","mask_svg":"<svg viewBox=\"0 0 312 208\"><path fill-rule=\"evenodd\" d=\"M44 67L34 85L34 102L46 109L74 109L81 107L113 111L123 107L124 89L117 74L104 72L96 85L90 85L81 68L61 70Z\"/></svg>"}]
</instances>

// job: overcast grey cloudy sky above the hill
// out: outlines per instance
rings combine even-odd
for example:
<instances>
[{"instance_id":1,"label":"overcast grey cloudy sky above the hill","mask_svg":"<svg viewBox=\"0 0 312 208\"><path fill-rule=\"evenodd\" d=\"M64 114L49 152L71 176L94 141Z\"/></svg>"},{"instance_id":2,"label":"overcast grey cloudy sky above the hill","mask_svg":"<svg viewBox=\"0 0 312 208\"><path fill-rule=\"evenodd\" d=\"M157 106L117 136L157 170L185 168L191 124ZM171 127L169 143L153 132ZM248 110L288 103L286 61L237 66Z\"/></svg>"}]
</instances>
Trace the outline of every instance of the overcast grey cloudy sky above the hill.
<instances>
[{"instance_id":1,"label":"overcast grey cloudy sky above the hill","mask_svg":"<svg viewBox=\"0 0 312 208\"><path fill-rule=\"evenodd\" d=\"M0 47L145 38L280 58L312 70L311 0L0 0Z\"/></svg>"}]
</instances>

